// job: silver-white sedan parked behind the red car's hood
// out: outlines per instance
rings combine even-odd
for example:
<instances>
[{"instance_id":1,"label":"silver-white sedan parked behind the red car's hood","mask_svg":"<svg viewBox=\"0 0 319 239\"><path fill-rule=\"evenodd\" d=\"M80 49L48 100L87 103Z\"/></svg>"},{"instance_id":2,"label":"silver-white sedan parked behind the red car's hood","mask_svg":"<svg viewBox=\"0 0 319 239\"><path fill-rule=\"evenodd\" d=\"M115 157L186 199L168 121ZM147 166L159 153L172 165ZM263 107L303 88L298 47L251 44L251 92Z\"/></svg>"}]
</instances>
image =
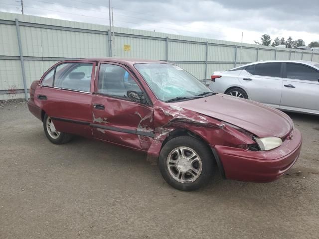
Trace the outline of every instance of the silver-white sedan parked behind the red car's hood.
<instances>
[{"instance_id":1,"label":"silver-white sedan parked behind the red car's hood","mask_svg":"<svg viewBox=\"0 0 319 239\"><path fill-rule=\"evenodd\" d=\"M209 88L283 111L319 115L319 63L259 61L216 71Z\"/></svg>"}]
</instances>

